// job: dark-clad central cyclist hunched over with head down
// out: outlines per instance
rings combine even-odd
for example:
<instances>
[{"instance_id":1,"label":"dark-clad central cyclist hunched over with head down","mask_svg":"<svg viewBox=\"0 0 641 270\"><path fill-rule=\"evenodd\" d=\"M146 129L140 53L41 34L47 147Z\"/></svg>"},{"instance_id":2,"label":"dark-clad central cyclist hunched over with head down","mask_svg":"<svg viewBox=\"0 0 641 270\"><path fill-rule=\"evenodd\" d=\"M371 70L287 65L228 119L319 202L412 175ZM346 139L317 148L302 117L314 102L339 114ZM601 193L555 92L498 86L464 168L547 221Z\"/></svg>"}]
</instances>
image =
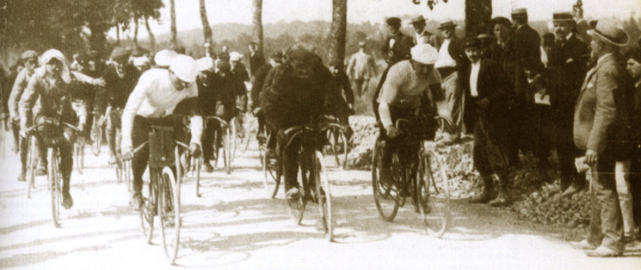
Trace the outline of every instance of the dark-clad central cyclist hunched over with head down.
<instances>
[{"instance_id":1,"label":"dark-clad central cyclist hunched over with head down","mask_svg":"<svg viewBox=\"0 0 641 270\"><path fill-rule=\"evenodd\" d=\"M318 55L305 45L293 45L286 52L285 63L273 68L270 72L269 87L261 92L261 101L267 123L278 131L278 147L287 144L290 138L285 131L293 126L308 124L321 114L333 112L329 107L329 97L333 92L333 80L330 71L320 62ZM315 148L325 145L326 137L316 134ZM280 151L284 156L284 179L286 198L296 200L301 193L297 187L298 146L301 139L291 142L291 147ZM282 160L282 159L281 159ZM310 190L315 190L314 180L310 179Z\"/></svg>"}]
</instances>

